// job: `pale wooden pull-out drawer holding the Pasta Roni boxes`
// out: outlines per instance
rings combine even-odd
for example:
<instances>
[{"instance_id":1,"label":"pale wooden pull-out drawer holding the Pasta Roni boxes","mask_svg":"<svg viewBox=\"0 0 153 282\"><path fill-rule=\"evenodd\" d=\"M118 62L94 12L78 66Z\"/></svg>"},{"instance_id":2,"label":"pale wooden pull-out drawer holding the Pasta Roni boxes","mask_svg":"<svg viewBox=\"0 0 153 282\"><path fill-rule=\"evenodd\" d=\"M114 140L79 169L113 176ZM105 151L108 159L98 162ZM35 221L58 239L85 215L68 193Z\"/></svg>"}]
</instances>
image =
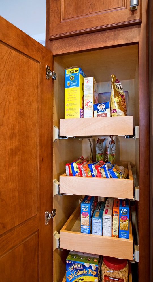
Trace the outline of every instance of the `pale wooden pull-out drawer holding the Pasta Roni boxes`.
<instances>
[{"instance_id":1,"label":"pale wooden pull-out drawer holding the Pasta Roni boxes","mask_svg":"<svg viewBox=\"0 0 153 282\"><path fill-rule=\"evenodd\" d=\"M60 248L132 260L131 221L129 233L129 239L80 233L79 205L60 231Z\"/></svg>"}]
</instances>

